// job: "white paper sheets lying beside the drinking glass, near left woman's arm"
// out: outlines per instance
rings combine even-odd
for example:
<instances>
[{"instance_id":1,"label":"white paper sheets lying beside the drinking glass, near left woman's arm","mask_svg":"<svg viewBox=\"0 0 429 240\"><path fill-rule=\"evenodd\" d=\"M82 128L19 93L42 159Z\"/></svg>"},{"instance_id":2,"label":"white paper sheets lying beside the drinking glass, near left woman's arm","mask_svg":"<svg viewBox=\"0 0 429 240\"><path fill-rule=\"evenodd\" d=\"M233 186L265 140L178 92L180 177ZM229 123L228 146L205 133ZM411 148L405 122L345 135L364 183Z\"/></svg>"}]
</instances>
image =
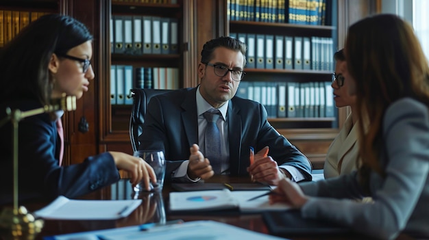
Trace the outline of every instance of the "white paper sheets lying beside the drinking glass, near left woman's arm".
<instances>
[{"instance_id":1,"label":"white paper sheets lying beside the drinking glass, near left woman's arm","mask_svg":"<svg viewBox=\"0 0 429 240\"><path fill-rule=\"evenodd\" d=\"M44 219L119 219L130 215L142 200L71 200L59 196L34 212Z\"/></svg>"}]
</instances>

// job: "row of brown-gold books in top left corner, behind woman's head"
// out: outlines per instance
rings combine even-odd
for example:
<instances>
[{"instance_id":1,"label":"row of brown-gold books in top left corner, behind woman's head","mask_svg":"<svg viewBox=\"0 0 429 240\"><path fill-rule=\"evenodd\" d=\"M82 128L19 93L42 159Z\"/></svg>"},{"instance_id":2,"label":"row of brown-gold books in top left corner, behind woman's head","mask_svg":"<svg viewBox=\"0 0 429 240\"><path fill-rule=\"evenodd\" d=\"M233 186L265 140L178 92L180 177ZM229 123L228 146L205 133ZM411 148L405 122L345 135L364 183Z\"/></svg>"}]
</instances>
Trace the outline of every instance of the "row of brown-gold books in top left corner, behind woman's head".
<instances>
[{"instance_id":1,"label":"row of brown-gold books in top left corner, behind woman's head","mask_svg":"<svg viewBox=\"0 0 429 240\"><path fill-rule=\"evenodd\" d=\"M10 42L19 31L47 12L0 10L0 47Z\"/></svg>"}]
</instances>

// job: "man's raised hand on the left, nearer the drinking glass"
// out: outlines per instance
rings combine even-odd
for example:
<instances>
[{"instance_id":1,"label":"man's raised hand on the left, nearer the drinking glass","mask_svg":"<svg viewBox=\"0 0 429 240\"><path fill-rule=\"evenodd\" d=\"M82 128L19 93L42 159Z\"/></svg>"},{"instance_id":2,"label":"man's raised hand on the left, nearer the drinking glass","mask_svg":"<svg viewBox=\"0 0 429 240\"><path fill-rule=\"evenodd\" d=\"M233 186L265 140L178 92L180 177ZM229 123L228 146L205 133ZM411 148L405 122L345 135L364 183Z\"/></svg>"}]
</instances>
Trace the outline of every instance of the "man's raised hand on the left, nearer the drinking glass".
<instances>
[{"instance_id":1,"label":"man's raised hand on the left, nearer the drinking glass","mask_svg":"<svg viewBox=\"0 0 429 240\"><path fill-rule=\"evenodd\" d=\"M199 146L193 144L191 146L191 156L189 156L188 176L191 179L201 178L206 180L215 175L212 170L210 161L204 158L204 155L199 151Z\"/></svg>"}]
</instances>

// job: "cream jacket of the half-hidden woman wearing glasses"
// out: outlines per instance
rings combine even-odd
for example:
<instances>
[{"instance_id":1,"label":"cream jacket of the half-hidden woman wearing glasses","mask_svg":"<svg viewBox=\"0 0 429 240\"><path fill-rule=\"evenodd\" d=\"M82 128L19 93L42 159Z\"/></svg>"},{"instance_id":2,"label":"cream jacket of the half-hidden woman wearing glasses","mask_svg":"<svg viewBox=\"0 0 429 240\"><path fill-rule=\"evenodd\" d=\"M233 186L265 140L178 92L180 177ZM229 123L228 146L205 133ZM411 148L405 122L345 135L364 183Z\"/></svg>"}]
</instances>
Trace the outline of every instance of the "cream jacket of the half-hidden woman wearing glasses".
<instances>
[{"instance_id":1,"label":"cream jacket of the half-hidden woman wearing glasses","mask_svg":"<svg viewBox=\"0 0 429 240\"><path fill-rule=\"evenodd\" d=\"M325 166L323 167L325 178L350 174L356 170L356 161L359 155L357 126L357 122L353 124L352 114L350 114L326 153Z\"/></svg>"}]
</instances>

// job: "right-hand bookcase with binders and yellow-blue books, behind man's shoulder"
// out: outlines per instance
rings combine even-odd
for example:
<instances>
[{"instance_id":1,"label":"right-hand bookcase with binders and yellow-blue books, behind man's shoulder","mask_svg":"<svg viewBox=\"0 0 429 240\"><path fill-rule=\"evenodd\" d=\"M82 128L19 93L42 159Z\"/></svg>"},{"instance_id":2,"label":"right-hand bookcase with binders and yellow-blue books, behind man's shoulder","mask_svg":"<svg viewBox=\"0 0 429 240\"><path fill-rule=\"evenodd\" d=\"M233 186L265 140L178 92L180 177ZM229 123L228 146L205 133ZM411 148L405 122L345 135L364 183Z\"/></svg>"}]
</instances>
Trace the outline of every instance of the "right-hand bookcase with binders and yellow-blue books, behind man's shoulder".
<instances>
[{"instance_id":1,"label":"right-hand bookcase with binders and yellow-blue books, behind man's shoulder","mask_svg":"<svg viewBox=\"0 0 429 240\"><path fill-rule=\"evenodd\" d=\"M238 38L248 45L246 57L249 64L242 82L247 83L241 83L242 90L239 87L238 92L242 91L248 98L256 98L253 100L264 104L271 125L304 152L314 168L323 168L326 151L339 131L339 116L345 115L344 111L336 109L329 91L334 72L333 54L339 42L336 24L338 1L249 2L253 5L243 5L244 2L236 0L223 2L225 36ZM309 10L312 3L317 7L314 10L319 9L319 2L328 3L323 10L326 14ZM304 8L299 9L294 3L304 5ZM299 17L299 14L303 16ZM311 22L310 19L316 21ZM322 40L330 43L320 44ZM261 53L264 57L262 65L258 56ZM275 90L270 92L270 89ZM254 93L249 94L252 91ZM264 94L264 91L267 92ZM274 93L277 96L271 98ZM286 96L282 98L282 94ZM320 99L322 97L324 99ZM276 110L271 105L275 105ZM326 112L328 108L332 113Z\"/></svg>"}]
</instances>

